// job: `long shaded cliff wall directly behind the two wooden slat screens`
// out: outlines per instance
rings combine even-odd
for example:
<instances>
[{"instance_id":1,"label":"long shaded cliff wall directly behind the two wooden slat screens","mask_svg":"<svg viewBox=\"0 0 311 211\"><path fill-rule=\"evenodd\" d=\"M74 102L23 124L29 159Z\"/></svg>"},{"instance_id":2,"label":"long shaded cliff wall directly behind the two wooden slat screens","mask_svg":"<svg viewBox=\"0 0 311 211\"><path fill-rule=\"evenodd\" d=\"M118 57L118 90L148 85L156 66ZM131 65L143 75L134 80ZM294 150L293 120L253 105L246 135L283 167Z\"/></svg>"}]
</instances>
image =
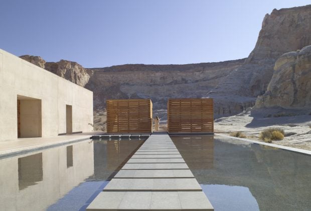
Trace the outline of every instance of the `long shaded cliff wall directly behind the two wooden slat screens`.
<instances>
[{"instance_id":1,"label":"long shaded cliff wall directly behind the two wooden slat screens","mask_svg":"<svg viewBox=\"0 0 311 211\"><path fill-rule=\"evenodd\" d=\"M94 75L85 88L94 92L95 109L103 108L106 99L120 98L150 98L154 109L166 109L168 98L208 97L208 93L223 77L243 63L244 59L188 65L138 64L91 69ZM240 102L237 103L237 110L240 111ZM231 106L232 112L236 112L234 106ZM221 108L215 107L215 111L221 114L229 110L223 105Z\"/></svg>"}]
</instances>

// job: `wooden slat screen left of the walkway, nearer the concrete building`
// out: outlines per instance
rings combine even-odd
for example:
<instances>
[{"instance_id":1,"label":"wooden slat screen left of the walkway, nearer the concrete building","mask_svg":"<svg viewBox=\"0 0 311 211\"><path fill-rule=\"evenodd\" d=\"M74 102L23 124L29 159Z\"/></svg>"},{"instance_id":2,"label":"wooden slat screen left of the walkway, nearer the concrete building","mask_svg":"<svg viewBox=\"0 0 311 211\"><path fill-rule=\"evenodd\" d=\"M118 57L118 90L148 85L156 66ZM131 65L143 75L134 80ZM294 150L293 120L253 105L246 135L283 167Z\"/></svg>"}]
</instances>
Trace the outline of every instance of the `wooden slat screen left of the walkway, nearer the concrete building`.
<instances>
[{"instance_id":1,"label":"wooden slat screen left of the walkway, nearer the concrete building","mask_svg":"<svg viewBox=\"0 0 311 211\"><path fill-rule=\"evenodd\" d=\"M151 133L151 100L107 100L107 133Z\"/></svg>"}]
</instances>

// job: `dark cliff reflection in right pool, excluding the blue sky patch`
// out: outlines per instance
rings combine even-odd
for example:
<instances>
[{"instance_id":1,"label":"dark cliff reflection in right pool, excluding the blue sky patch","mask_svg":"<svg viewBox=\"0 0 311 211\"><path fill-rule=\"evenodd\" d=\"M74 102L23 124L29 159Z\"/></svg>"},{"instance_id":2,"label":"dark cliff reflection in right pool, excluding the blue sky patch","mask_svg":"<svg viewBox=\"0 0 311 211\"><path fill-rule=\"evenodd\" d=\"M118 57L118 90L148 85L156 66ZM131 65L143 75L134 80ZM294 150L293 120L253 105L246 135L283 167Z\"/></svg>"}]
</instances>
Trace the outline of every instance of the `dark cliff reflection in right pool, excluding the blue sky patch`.
<instances>
[{"instance_id":1,"label":"dark cliff reflection in right pool, excluding the blue sky patch","mask_svg":"<svg viewBox=\"0 0 311 211\"><path fill-rule=\"evenodd\" d=\"M311 207L311 156L246 142L236 144L222 138L214 141L203 138L194 146L179 142L174 141L187 163L188 160L193 163L194 157L198 157L196 165L200 169L192 168L194 164L189 167L200 184L248 187L260 210L308 210ZM214 142L212 168L203 164L212 163L211 158L207 161L211 148L208 149L205 142ZM184 156L185 150L193 156ZM199 154L204 155L203 160Z\"/></svg>"}]
</instances>

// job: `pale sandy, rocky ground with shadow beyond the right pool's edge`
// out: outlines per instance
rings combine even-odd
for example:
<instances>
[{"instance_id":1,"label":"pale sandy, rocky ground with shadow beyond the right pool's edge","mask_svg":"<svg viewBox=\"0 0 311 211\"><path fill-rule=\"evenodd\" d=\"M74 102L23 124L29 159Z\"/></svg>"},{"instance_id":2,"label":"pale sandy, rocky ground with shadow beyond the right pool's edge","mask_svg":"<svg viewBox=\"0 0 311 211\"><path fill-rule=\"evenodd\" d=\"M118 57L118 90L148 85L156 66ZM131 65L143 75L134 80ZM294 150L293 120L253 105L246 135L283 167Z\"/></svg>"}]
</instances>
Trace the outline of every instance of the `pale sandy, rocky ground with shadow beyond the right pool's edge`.
<instances>
[{"instance_id":1,"label":"pale sandy, rocky ground with shadow beyond the right pool's edge","mask_svg":"<svg viewBox=\"0 0 311 211\"><path fill-rule=\"evenodd\" d=\"M273 113L271 110L249 110L235 116L216 119L214 130L225 134L240 131L248 139L260 141L261 131L271 127L281 128L285 132L284 139L272 143L311 150L311 115L300 113L296 116L267 117L270 116L268 112Z\"/></svg>"}]
</instances>

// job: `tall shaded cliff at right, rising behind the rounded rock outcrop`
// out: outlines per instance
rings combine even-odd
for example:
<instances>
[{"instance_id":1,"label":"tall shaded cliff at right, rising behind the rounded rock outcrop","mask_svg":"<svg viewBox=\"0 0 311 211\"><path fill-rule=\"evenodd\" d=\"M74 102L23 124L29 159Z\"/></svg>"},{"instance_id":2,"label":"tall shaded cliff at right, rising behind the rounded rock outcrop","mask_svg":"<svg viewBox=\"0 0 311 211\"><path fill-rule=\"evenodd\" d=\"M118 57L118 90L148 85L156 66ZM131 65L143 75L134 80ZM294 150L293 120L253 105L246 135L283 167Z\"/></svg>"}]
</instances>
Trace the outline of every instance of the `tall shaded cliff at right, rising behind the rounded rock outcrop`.
<instances>
[{"instance_id":1,"label":"tall shaded cliff at right, rising behind the rounded rock outcrop","mask_svg":"<svg viewBox=\"0 0 311 211\"><path fill-rule=\"evenodd\" d=\"M262 95L276 59L307 45L311 45L311 6L274 9L264 17L256 46L245 64L224 77L210 97Z\"/></svg>"}]
</instances>

